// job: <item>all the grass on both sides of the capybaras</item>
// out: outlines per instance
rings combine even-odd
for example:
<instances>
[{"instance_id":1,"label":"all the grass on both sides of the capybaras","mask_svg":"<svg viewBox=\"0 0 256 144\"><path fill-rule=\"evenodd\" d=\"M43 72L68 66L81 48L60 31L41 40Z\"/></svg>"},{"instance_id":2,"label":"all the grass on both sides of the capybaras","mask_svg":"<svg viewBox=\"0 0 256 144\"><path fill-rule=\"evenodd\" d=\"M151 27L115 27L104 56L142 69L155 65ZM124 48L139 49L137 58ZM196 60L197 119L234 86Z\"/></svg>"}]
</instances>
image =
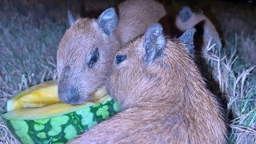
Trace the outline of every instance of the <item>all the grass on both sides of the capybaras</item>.
<instances>
[{"instance_id":1,"label":"all the grass on both sides of the capybaras","mask_svg":"<svg viewBox=\"0 0 256 144\"><path fill-rule=\"evenodd\" d=\"M226 44L222 50L213 50L210 43L203 57L227 100L226 115L233 115L228 141L255 143L256 9L226 2L214 4L217 6L211 11L220 22ZM55 20L22 14L10 5L0 9L0 113L6 111L5 102L14 94L56 78L56 51L67 22L66 9L54 11L59 14L53 16ZM0 143L18 143L2 121Z\"/></svg>"}]
</instances>

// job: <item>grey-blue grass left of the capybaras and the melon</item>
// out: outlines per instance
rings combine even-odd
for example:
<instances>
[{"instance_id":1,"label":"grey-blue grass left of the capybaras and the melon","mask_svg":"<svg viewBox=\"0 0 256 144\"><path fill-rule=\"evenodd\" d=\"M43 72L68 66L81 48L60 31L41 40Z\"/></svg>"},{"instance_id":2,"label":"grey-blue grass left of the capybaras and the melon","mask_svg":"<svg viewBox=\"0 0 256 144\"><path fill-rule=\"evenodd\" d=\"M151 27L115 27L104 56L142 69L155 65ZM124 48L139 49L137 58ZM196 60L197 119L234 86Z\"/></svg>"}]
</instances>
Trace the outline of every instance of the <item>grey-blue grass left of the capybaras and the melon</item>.
<instances>
[{"instance_id":1,"label":"grey-blue grass left of the capybaras and the melon","mask_svg":"<svg viewBox=\"0 0 256 144\"><path fill-rule=\"evenodd\" d=\"M0 114L14 94L57 78L57 46L66 26L65 18L34 21L31 14L0 9ZM0 143L18 143L1 118Z\"/></svg>"}]
</instances>

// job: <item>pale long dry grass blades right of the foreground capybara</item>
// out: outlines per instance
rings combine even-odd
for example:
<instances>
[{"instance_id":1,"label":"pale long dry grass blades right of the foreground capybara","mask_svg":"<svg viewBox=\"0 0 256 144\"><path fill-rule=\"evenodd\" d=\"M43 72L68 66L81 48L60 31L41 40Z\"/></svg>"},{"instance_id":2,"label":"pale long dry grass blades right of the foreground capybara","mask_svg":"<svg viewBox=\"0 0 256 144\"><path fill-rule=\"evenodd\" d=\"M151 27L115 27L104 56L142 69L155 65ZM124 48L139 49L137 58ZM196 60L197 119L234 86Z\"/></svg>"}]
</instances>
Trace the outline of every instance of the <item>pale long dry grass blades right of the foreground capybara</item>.
<instances>
[{"instance_id":1,"label":"pale long dry grass blades right of the foreground capybara","mask_svg":"<svg viewBox=\"0 0 256 144\"><path fill-rule=\"evenodd\" d=\"M214 74L223 96L227 100L227 114L230 119L230 143L256 142L256 82L255 66L241 65L237 55L237 40L234 46L221 51L214 45L204 49L203 57ZM228 48L228 49L227 49Z\"/></svg>"}]
</instances>

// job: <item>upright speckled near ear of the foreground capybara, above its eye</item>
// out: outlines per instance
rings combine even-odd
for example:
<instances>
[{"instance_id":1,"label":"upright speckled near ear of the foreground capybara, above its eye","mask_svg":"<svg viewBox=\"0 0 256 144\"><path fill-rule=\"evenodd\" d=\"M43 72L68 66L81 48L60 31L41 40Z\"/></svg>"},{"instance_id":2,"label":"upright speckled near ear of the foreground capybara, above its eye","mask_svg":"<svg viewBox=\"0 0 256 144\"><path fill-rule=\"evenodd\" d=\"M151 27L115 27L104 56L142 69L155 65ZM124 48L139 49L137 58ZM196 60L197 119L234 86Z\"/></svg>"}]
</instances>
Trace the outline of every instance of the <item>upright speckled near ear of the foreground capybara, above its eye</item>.
<instances>
[{"instance_id":1,"label":"upright speckled near ear of the foreground capybara, above its eye","mask_svg":"<svg viewBox=\"0 0 256 144\"><path fill-rule=\"evenodd\" d=\"M144 61L147 64L154 62L154 59L162 54L162 50L165 48L165 46L166 38L164 37L162 26L159 23L154 23L146 30L144 35Z\"/></svg>"}]
</instances>

